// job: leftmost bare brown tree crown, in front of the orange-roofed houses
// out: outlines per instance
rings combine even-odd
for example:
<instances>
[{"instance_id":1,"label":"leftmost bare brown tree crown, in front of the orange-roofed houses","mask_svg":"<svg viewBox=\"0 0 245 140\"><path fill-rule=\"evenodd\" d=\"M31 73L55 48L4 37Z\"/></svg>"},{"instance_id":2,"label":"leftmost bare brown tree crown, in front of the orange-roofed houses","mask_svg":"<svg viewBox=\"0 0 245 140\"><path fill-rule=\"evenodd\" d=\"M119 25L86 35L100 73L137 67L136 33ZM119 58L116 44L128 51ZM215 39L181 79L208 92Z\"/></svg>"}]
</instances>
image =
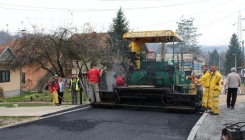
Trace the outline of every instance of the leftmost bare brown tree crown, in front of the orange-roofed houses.
<instances>
[{"instance_id":1,"label":"leftmost bare brown tree crown, in front of the orange-roofed houses","mask_svg":"<svg viewBox=\"0 0 245 140\"><path fill-rule=\"evenodd\" d=\"M67 29L60 29L50 34L34 33L18 38L12 47L15 58L10 60L8 69L35 67L36 71L44 69L52 75L57 73L64 77L68 34Z\"/></svg>"}]
</instances>

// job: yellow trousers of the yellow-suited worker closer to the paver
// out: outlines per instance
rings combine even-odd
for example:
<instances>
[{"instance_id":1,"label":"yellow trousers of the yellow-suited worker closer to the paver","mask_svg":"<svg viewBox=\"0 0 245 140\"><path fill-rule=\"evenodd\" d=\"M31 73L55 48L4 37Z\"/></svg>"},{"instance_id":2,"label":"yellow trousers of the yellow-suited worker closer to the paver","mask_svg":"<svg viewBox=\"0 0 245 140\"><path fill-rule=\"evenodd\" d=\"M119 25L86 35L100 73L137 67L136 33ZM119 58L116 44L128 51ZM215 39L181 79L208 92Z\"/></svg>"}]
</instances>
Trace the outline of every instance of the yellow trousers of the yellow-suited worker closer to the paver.
<instances>
[{"instance_id":1,"label":"yellow trousers of the yellow-suited worker closer to the paver","mask_svg":"<svg viewBox=\"0 0 245 140\"><path fill-rule=\"evenodd\" d=\"M209 91L209 87L204 87L203 97L202 97L202 106L205 108L212 109L212 92Z\"/></svg>"}]
</instances>

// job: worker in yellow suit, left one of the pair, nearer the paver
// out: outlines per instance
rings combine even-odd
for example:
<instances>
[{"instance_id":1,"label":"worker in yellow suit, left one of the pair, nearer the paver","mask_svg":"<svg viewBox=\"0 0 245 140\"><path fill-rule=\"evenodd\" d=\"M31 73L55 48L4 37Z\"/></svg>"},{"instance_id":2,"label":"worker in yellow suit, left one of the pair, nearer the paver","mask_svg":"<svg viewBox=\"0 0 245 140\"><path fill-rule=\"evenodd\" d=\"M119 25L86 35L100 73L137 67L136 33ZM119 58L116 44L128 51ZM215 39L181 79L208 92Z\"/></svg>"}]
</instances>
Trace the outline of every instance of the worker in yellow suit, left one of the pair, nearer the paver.
<instances>
[{"instance_id":1,"label":"worker in yellow suit, left one of the pair, nearer the paver","mask_svg":"<svg viewBox=\"0 0 245 140\"><path fill-rule=\"evenodd\" d=\"M208 65L202 66L203 76L198 80L199 83L202 84L203 87L203 98L202 98L202 108L201 111L207 111L208 109L212 109L212 95L209 90L209 82L211 73L208 71Z\"/></svg>"}]
</instances>

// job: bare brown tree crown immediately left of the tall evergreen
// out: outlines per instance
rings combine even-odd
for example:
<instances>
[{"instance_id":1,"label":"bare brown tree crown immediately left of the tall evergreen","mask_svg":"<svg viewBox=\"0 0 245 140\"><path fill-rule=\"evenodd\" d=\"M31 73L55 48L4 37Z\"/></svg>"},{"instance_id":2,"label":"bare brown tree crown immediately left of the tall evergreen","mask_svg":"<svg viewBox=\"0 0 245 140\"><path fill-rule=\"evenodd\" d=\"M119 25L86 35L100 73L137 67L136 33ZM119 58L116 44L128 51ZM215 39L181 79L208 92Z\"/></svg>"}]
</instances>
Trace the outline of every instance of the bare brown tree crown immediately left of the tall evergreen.
<instances>
[{"instance_id":1,"label":"bare brown tree crown immediately left of the tall evergreen","mask_svg":"<svg viewBox=\"0 0 245 140\"><path fill-rule=\"evenodd\" d=\"M112 52L105 45L107 37L105 33L94 32L93 27L87 23L83 33L76 33L70 38L70 41L74 42L72 50L76 50L70 51L70 55L79 69L79 74L88 71L95 63L101 64L101 68L113 63Z\"/></svg>"}]
</instances>

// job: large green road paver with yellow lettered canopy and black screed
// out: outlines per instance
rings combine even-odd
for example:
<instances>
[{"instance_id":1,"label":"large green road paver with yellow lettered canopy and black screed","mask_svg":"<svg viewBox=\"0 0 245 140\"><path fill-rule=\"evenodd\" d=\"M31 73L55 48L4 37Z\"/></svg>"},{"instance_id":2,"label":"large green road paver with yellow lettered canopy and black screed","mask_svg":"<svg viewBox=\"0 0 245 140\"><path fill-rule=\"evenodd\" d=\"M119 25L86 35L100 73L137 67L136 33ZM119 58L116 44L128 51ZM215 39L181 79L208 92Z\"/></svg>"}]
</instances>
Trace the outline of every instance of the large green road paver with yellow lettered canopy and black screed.
<instances>
[{"instance_id":1,"label":"large green road paver with yellow lettered canopy and black screed","mask_svg":"<svg viewBox=\"0 0 245 140\"><path fill-rule=\"evenodd\" d=\"M174 45L182 38L171 30L128 32L124 39L132 41L131 51L125 55L126 86L113 91L100 91L101 103L92 106L156 107L166 110L195 111L201 107L202 90L190 86L183 71L183 59L175 60ZM166 43L173 45L173 57L165 60ZM161 59L148 51L146 43L161 43ZM178 55L179 56L179 55ZM191 92L194 90L195 93ZM192 94L191 94L192 93Z\"/></svg>"}]
</instances>

